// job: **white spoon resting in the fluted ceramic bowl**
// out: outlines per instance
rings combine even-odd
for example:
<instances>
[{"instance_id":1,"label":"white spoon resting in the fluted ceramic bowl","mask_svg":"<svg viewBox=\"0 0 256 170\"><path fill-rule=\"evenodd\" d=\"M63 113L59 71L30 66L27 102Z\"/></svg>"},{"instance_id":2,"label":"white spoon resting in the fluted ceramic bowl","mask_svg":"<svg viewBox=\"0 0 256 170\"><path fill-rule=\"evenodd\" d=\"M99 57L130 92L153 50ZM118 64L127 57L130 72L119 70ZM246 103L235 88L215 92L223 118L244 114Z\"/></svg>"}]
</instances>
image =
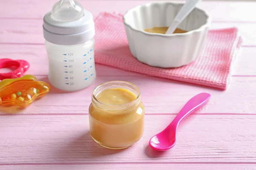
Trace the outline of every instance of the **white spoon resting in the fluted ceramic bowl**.
<instances>
[{"instance_id":1,"label":"white spoon resting in the fluted ceramic bowl","mask_svg":"<svg viewBox=\"0 0 256 170\"><path fill-rule=\"evenodd\" d=\"M178 14L175 16L171 25L167 29L165 34L172 34L177 26L188 16L188 14L195 8L195 6L201 0L186 0L186 3L182 6Z\"/></svg>"}]
</instances>

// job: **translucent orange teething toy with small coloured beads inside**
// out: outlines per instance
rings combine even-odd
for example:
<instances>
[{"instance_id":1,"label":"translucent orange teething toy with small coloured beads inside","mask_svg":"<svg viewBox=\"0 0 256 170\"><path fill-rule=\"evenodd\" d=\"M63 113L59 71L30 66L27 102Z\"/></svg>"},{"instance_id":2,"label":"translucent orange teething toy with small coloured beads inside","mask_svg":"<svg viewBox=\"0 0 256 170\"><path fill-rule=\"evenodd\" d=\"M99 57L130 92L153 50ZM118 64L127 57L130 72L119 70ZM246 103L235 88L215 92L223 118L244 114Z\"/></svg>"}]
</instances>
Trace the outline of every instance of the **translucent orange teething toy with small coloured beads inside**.
<instances>
[{"instance_id":1,"label":"translucent orange teething toy with small coloured beads inside","mask_svg":"<svg viewBox=\"0 0 256 170\"><path fill-rule=\"evenodd\" d=\"M4 79L0 82L0 106L17 105L25 108L49 90L50 86L46 82L38 81L32 75Z\"/></svg>"}]
</instances>

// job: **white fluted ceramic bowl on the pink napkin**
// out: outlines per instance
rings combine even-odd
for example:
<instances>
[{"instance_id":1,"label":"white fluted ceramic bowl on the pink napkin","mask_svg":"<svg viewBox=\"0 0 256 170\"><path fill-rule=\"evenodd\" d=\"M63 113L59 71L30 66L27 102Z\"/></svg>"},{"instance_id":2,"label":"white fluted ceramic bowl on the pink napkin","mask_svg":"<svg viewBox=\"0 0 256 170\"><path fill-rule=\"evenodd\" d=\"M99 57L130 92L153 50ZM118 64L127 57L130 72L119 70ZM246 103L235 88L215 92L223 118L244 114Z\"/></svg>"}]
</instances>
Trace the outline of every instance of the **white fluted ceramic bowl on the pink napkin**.
<instances>
[{"instance_id":1,"label":"white fluted ceramic bowl on the pink napkin","mask_svg":"<svg viewBox=\"0 0 256 170\"><path fill-rule=\"evenodd\" d=\"M156 34L146 28L169 26L183 4L148 3L128 10L123 16L131 54L140 62L161 68L187 65L200 54L207 37L210 17L195 8L178 28L182 34Z\"/></svg>"}]
</instances>

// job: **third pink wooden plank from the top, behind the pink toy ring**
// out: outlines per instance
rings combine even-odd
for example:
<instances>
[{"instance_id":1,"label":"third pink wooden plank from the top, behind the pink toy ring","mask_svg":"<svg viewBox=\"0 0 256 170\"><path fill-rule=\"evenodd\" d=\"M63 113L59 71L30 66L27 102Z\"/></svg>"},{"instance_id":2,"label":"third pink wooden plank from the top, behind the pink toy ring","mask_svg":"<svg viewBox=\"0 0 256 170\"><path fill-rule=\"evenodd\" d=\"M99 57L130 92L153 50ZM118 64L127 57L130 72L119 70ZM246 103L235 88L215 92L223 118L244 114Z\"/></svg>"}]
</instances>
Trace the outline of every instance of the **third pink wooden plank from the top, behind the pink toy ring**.
<instances>
[{"instance_id":1,"label":"third pink wooden plank from the top, behind the pink toy ring","mask_svg":"<svg viewBox=\"0 0 256 170\"><path fill-rule=\"evenodd\" d=\"M3 58L23 59L30 63L26 74L47 75L48 57L44 45L0 45L0 56ZM231 74L233 76L256 76L256 48L241 48L240 54L233 65ZM246 69L244 69L246 68ZM8 71L1 69L0 71ZM96 65L97 76L140 76L130 71L124 71L104 65Z\"/></svg>"}]
</instances>

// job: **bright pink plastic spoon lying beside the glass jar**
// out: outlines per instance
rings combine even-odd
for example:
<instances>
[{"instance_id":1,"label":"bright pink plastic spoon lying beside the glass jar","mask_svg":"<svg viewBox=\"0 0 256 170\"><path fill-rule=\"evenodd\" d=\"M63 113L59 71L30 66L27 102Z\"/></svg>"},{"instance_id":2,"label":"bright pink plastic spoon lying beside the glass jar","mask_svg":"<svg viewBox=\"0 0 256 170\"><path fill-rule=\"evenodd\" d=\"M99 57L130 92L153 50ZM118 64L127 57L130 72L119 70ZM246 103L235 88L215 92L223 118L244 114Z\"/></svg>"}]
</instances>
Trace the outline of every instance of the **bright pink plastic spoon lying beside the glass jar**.
<instances>
[{"instance_id":1,"label":"bright pink plastic spoon lying beside the glass jar","mask_svg":"<svg viewBox=\"0 0 256 170\"><path fill-rule=\"evenodd\" d=\"M193 113L195 110L207 103L210 97L211 95L208 93L201 93L192 97L181 109L180 113L178 113L173 119L170 125L168 125L162 132L151 137L149 140L149 145L154 150L160 151L168 150L174 147L176 144L177 127L180 122L189 116L189 114Z\"/></svg>"}]
</instances>

